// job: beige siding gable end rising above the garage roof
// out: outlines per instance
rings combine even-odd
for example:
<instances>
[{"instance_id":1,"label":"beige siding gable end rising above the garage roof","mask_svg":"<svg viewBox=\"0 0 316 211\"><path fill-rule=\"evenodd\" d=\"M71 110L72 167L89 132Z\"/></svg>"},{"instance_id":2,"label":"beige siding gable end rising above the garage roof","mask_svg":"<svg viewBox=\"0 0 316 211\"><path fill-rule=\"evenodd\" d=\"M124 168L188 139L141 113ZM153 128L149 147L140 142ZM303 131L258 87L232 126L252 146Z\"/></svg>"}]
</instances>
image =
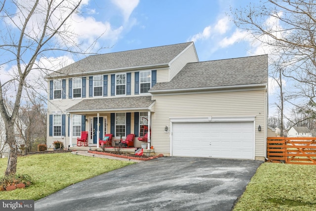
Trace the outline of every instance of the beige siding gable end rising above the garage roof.
<instances>
[{"instance_id":1,"label":"beige siding gable end rising above the garage roof","mask_svg":"<svg viewBox=\"0 0 316 211\"><path fill-rule=\"evenodd\" d=\"M198 62L197 53L193 44L170 62L169 81L173 79L187 63L191 62Z\"/></svg>"}]
</instances>

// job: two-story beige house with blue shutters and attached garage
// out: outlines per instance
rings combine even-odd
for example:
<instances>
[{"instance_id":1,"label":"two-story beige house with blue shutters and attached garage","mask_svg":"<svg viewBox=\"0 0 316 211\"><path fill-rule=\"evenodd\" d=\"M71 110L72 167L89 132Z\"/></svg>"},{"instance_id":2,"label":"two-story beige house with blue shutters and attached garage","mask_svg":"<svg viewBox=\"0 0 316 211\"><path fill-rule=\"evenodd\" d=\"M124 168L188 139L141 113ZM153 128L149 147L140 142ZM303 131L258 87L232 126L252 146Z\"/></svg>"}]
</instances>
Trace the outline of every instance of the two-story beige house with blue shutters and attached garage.
<instances>
[{"instance_id":1,"label":"two-story beige house with blue shutters and attached garage","mask_svg":"<svg viewBox=\"0 0 316 211\"><path fill-rule=\"evenodd\" d=\"M88 131L89 146L134 133L140 147L150 125L165 156L266 157L268 55L198 62L187 42L89 56L45 78L48 146Z\"/></svg>"}]
</instances>

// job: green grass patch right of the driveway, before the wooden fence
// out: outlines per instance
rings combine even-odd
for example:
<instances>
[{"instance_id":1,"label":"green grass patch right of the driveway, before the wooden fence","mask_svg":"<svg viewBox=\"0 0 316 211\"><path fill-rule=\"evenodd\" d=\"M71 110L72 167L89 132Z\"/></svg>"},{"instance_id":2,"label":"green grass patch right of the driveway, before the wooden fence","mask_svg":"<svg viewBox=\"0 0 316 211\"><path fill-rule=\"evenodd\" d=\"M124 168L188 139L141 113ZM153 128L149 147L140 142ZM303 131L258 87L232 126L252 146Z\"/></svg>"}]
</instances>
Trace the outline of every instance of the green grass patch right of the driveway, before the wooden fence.
<instances>
[{"instance_id":1,"label":"green grass patch right of the driveway, before the wooden fence","mask_svg":"<svg viewBox=\"0 0 316 211\"><path fill-rule=\"evenodd\" d=\"M262 164L234 211L316 210L316 166Z\"/></svg>"}]
</instances>

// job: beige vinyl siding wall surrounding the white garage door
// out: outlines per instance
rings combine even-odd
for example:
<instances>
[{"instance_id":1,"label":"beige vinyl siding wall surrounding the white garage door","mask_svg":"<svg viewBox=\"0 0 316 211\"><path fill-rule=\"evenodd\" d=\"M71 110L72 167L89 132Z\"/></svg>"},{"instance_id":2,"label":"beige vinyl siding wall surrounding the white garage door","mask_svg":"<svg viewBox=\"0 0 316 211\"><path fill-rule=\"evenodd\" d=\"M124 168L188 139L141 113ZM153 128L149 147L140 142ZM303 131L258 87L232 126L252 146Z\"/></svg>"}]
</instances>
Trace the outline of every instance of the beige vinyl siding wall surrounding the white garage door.
<instances>
[{"instance_id":1,"label":"beige vinyl siding wall surrounding the white garage door","mask_svg":"<svg viewBox=\"0 0 316 211\"><path fill-rule=\"evenodd\" d=\"M152 145L155 153L170 153L170 118L177 117L246 117L255 116L255 156L265 153L265 90L218 93L188 93L182 95L154 95ZM258 132L258 126L261 132Z\"/></svg>"}]
</instances>

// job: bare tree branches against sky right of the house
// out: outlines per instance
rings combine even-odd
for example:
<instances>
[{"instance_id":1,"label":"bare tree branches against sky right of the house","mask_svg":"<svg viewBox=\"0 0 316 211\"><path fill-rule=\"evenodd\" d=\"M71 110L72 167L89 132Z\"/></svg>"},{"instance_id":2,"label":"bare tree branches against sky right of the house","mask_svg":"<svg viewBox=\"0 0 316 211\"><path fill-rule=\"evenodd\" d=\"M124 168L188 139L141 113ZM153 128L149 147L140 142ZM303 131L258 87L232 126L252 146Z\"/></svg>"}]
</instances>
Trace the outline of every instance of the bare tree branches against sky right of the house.
<instances>
[{"instance_id":1,"label":"bare tree branches against sky right of the house","mask_svg":"<svg viewBox=\"0 0 316 211\"><path fill-rule=\"evenodd\" d=\"M309 103L313 105L309 112L315 113L316 1L267 0L231 11L237 27L272 49L269 58L277 62L276 73L291 81L290 92L281 100L293 105Z\"/></svg>"}]
</instances>

